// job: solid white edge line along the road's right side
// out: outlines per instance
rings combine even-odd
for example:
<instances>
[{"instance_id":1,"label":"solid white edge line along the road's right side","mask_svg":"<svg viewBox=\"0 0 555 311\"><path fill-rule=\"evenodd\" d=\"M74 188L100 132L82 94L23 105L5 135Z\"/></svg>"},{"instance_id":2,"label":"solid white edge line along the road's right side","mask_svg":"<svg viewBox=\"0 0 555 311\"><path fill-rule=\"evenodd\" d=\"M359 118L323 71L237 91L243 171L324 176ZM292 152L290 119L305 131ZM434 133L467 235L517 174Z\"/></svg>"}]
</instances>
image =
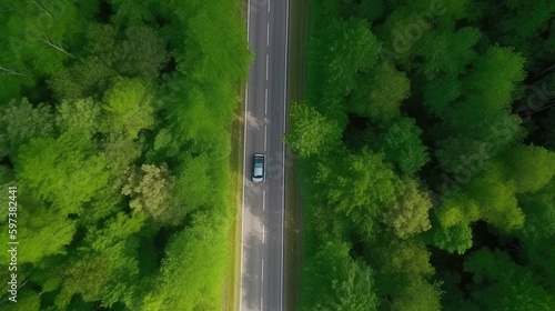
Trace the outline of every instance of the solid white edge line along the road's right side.
<instances>
[{"instance_id":1,"label":"solid white edge line along the road's right side","mask_svg":"<svg viewBox=\"0 0 555 311\"><path fill-rule=\"evenodd\" d=\"M286 129L286 120L287 120L287 74L289 74L289 70L287 70L287 61L289 61L289 3L290 3L290 0L286 0L287 1L287 8L286 8L286 12L285 12L285 74L284 74L284 89L283 89L283 101L284 101L284 106L283 106L283 131L285 131ZM283 188L282 188L282 213L281 213L281 290L280 290L280 310L283 310L283 257L285 255L283 253L283 245L284 245L284 239L283 239L283 225L284 225L284 221L285 221L285 142L283 142L282 140L282 147L283 147L283 163L282 163L282 168L283 168Z\"/></svg>"}]
</instances>

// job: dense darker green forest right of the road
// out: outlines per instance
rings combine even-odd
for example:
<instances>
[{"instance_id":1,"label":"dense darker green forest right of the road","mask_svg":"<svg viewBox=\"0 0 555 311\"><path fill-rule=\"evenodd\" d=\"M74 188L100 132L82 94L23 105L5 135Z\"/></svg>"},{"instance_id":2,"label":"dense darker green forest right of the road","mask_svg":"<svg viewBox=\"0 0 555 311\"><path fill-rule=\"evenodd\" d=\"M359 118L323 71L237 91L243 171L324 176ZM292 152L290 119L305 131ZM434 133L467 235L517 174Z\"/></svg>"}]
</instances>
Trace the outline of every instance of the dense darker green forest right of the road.
<instances>
[{"instance_id":1,"label":"dense darker green forest right of the road","mask_svg":"<svg viewBox=\"0 0 555 311\"><path fill-rule=\"evenodd\" d=\"M309 8L300 310L554 310L555 1Z\"/></svg>"}]
</instances>

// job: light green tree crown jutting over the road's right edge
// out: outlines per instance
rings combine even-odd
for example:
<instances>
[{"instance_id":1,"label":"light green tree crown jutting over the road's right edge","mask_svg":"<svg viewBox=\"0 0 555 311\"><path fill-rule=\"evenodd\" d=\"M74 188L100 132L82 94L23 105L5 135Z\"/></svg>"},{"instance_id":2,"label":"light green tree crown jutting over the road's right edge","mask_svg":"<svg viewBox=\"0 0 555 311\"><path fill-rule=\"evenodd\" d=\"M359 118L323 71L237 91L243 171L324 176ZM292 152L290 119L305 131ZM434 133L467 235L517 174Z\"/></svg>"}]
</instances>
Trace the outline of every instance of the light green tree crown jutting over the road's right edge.
<instances>
[{"instance_id":1,"label":"light green tree crown jutting over the road's right edge","mask_svg":"<svg viewBox=\"0 0 555 311\"><path fill-rule=\"evenodd\" d=\"M337 121L319 113L305 103L295 103L289 118L292 130L285 142L303 157L325 154L340 142L342 131Z\"/></svg>"}]
</instances>

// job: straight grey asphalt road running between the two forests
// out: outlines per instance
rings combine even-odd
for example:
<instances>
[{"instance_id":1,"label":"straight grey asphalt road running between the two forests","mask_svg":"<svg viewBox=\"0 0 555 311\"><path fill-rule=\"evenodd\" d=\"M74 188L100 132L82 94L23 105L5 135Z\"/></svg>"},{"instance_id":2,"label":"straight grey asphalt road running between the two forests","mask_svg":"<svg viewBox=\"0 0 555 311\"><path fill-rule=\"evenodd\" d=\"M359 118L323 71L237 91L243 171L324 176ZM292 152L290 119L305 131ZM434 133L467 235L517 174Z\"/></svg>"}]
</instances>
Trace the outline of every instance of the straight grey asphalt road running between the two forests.
<instances>
[{"instance_id":1,"label":"straight grey asphalt road running between the two forests","mask_svg":"<svg viewBox=\"0 0 555 311\"><path fill-rule=\"evenodd\" d=\"M249 1L254 63L245 104L240 309L283 310L283 224L289 0ZM265 154L265 181L251 181L252 156Z\"/></svg>"}]
</instances>

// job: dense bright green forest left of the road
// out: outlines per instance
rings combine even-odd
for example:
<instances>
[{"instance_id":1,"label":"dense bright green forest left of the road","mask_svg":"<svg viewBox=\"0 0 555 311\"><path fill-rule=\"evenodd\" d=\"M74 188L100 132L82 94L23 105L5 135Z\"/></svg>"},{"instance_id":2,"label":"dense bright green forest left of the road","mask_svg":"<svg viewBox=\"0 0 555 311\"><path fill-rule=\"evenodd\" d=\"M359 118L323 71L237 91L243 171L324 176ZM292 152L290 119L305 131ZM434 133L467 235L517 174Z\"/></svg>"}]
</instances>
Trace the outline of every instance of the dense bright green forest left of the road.
<instances>
[{"instance_id":1,"label":"dense bright green forest left of the road","mask_svg":"<svg viewBox=\"0 0 555 311\"><path fill-rule=\"evenodd\" d=\"M0 202L18 187L20 242L18 302L3 265L1 310L222 308L242 10L1 1Z\"/></svg>"}]
</instances>

